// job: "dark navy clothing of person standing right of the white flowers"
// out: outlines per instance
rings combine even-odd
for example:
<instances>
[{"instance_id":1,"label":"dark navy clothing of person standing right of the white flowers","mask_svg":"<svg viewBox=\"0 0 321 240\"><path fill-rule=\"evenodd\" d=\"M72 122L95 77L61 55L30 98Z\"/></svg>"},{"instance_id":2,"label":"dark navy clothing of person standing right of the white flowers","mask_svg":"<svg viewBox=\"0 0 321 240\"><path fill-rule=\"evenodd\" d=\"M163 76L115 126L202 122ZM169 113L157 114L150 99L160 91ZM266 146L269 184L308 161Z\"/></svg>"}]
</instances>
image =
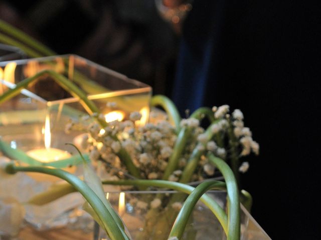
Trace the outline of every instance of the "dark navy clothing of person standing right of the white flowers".
<instances>
[{"instance_id":1,"label":"dark navy clothing of person standing right of the white flowers","mask_svg":"<svg viewBox=\"0 0 321 240\"><path fill-rule=\"evenodd\" d=\"M320 189L320 3L195 0L173 99L240 108L260 143L242 186L272 239L317 239Z\"/></svg>"}]
</instances>

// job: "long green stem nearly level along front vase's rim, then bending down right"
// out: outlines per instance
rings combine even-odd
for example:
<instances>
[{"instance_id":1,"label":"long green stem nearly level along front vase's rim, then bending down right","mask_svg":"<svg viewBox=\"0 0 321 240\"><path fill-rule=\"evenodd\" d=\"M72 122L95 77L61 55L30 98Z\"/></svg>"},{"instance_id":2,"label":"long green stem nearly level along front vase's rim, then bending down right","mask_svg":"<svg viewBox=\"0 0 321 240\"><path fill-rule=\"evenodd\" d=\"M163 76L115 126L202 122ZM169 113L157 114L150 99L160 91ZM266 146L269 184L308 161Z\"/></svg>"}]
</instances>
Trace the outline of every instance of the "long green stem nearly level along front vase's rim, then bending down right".
<instances>
[{"instance_id":1,"label":"long green stem nearly level along front vase's rim, then bending down right","mask_svg":"<svg viewBox=\"0 0 321 240\"><path fill-rule=\"evenodd\" d=\"M216 189L222 190L225 189L225 184L220 181L216 181ZM103 180L103 184L113 184L113 185L134 185L134 186L154 186L154 187L165 187L171 188L174 190L182 191L185 193L190 194L195 188L193 186L180 183L180 182L173 182L173 181L166 181L166 180L118 180L118 181L111 181L111 180ZM204 204L211 209L211 211L215 214L218 218L219 222L221 223L225 233L227 234L227 216L222 207L210 196L204 194L200 200L204 202Z\"/></svg>"}]
</instances>

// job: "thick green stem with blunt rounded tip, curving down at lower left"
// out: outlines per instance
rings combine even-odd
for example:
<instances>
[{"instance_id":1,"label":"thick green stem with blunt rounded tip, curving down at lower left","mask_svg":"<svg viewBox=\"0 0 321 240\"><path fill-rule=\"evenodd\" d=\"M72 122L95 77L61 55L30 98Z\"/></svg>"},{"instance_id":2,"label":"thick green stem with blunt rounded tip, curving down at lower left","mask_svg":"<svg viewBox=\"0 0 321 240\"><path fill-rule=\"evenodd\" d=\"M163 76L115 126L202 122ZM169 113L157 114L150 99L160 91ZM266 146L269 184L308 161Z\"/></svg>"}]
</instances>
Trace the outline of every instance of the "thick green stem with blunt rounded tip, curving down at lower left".
<instances>
[{"instance_id":1,"label":"thick green stem with blunt rounded tip, curving down at lower left","mask_svg":"<svg viewBox=\"0 0 321 240\"><path fill-rule=\"evenodd\" d=\"M129 237L126 235L124 230L120 227L120 224L117 223L119 222L119 219L114 218L113 214L106 208L106 206L99 199L96 193L85 182L80 180L77 176L61 169L53 169L53 168L39 167L39 166L22 167L22 166L15 166L13 163L9 163L5 169L8 173L11 173L11 174L14 174L18 171L31 171L31 172L40 172L40 173L57 176L66 180L85 197L85 199L94 209L99 219L103 223L103 227L106 229L111 239L129 240ZM114 215L115 214L116 213L114 212Z\"/></svg>"}]
</instances>

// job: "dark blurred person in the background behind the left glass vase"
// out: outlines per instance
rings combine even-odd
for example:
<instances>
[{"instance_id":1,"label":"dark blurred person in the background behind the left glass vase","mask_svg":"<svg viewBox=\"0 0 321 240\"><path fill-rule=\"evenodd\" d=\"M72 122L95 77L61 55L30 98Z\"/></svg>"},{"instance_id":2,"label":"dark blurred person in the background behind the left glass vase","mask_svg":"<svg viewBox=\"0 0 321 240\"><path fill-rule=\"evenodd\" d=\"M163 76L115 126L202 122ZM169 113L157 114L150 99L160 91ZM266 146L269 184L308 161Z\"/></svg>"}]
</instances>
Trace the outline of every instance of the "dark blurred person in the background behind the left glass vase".
<instances>
[{"instance_id":1,"label":"dark blurred person in the background behind the left glass vase","mask_svg":"<svg viewBox=\"0 0 321 240\"><path fill-rule=\"evenodd\" d=\"M2 0L0 18L58 54L75 53L170 94L177 36L151 0Z\"/></svg>"}]
</instances>

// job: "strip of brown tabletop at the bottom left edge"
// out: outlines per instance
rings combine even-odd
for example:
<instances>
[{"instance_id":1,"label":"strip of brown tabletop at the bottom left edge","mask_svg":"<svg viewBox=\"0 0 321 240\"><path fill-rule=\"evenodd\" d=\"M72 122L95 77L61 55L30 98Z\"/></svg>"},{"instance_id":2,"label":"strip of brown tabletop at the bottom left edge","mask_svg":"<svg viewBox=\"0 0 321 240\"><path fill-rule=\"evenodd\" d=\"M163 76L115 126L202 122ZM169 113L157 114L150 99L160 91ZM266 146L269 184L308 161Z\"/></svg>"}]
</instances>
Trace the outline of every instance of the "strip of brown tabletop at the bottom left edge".
<instances>
[{"instance_id":1,"label":"strip of brown tabletop at the bottom left edge","mask_svg":"<svg viewBox=\"0 0 321 240\"><path fill-rule=\"evenodd\" d=\"M46 231L37 231L31 227L24 227L19 233L21 240L92 240L93 232L84 233L81 230L72 230L66 227Z\"/></svg>"}]
</instances>

